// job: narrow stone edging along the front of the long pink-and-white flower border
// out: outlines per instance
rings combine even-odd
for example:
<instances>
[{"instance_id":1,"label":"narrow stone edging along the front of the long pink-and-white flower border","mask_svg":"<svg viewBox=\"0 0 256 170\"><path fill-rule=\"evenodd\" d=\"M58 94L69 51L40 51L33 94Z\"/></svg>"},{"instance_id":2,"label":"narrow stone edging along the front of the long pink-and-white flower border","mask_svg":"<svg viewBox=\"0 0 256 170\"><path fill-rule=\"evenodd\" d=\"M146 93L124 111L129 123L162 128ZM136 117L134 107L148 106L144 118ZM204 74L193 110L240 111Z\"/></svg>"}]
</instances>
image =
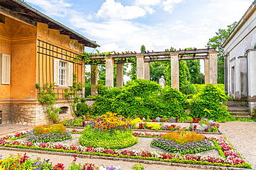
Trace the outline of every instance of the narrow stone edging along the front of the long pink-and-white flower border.
<instances>
[{"instance_id":1,"label":"narrow stone edging along the front of the long pink-and-white flower border","mask_svg":"<svg viewBox=\"0 0 256 170\"><path fill-rule=\"evenodd\" d=\"M104 159L104 160L120 160L125 162L138 162L144 164L160 164L166 166L175 166L175 167L190 167L190 168L197 168L197 169L219 169L219 170L248 170L246 168L236 168L236 167L220 167L220 166L213 166L213 165L203 165L203 164L183 164L183 163L176 163L176 162L164 162L164 161L154 161L154 160L140 160L140 159L131 159L131 158L115 158L115 157L108 157L108 156L92 156L92 155L84 155L80 153L63 153L57 151L40 151L34 149L19 149L19 148L12 148L12 147L0 147L0 150L8 150L8 151L27 151L33 153L45 153L45 154L52 154L52 155L59 155L59 156L75 156L77 155L78 158L91 158L91 159Z\"/></svg>"}]
</instances>

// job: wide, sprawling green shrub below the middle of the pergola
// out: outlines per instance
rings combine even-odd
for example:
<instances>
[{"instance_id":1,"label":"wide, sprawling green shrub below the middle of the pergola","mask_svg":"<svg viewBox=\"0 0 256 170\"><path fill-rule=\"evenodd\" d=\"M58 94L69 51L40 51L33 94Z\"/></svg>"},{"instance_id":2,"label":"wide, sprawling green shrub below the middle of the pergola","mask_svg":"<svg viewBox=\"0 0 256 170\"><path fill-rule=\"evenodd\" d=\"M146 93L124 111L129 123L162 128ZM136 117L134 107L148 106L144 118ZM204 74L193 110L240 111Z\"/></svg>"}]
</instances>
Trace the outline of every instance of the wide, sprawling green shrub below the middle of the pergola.
<instances>
[{"instance_id":1,"label":"wide, sprawling green shrub below the middle of the pergola","mask_svg":"<svg viewBox=\"0 0 256 170\"><path fill-rule=\"evenodd\" d=\"M188 106L188 102L176 89L162 89L156 82L137 79L129 81L125 87L109 89L100 85L94 106L94 113L98 115L111 111L130 118L182 118L185 117L184 107Z\"/></svg>"}]
</instances>

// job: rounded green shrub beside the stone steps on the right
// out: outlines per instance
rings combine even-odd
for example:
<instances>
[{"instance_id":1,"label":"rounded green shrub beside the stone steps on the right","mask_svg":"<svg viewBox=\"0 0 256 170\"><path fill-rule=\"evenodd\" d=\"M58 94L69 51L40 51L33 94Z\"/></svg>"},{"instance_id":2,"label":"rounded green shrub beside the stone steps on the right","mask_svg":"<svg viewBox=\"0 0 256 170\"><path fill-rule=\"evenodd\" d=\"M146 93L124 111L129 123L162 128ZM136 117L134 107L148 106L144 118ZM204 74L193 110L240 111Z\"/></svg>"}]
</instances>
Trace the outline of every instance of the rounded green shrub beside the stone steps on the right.
<instances>
[{"instance_id":1,"label":"rounded green shrub beside the stone steps on the right","mask_svg":"<svg viewBox=\"0 0 256 170\"><path fill-rule=\"evenodd\" d=\"M226 103L228 96L225 92L210 83L194 96L192 100L192 109L190 116L194 118L208 118L216 121L225 121L232 116L227 107L222 103Z\"/></svg>"}]
</instances>

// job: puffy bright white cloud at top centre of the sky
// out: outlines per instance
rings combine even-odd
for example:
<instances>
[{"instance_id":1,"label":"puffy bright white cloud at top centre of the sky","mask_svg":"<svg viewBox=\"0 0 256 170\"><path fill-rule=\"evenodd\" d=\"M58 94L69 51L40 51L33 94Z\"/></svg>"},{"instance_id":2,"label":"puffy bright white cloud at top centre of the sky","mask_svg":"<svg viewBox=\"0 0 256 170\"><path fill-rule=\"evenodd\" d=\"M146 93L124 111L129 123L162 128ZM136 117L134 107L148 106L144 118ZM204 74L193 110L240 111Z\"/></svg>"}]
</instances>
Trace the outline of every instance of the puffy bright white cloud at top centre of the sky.
<instances>
[{"instance_id":1,"label":"puffy bright white cloud at top centre of the sky","mask_svg":"<svg viewBox=\"0 0 256 170\"><path fill-rule=\"evenodd\" d=\"M122 3L114 0L106 0L95 15L102 19L136 19L144 17L147 12L139 6L122 6Z\"/></svg>"}]
</instances>

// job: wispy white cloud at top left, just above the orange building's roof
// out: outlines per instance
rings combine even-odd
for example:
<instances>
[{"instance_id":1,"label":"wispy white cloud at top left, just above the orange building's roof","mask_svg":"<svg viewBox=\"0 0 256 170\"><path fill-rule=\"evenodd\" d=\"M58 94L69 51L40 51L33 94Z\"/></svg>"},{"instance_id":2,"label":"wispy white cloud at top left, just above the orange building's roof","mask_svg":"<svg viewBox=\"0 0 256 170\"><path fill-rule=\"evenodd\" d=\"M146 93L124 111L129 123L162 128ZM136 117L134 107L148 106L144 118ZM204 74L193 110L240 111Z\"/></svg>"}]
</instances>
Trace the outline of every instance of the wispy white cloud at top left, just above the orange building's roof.
<instances>
[{"instance_id":1,"label":"wispy white cloud at top left, just above the orange building's roof","mask_svg":"<svg viewBox=\"0 0 256 170\"><path fill-rule=\"evenodd\" d=\"M66 3L64 0L26 0L26 3L39 6L47 15L56 17L65 17L70 12L68 8L72 6L71 3Z\"/></svg>"}]
</instances>

